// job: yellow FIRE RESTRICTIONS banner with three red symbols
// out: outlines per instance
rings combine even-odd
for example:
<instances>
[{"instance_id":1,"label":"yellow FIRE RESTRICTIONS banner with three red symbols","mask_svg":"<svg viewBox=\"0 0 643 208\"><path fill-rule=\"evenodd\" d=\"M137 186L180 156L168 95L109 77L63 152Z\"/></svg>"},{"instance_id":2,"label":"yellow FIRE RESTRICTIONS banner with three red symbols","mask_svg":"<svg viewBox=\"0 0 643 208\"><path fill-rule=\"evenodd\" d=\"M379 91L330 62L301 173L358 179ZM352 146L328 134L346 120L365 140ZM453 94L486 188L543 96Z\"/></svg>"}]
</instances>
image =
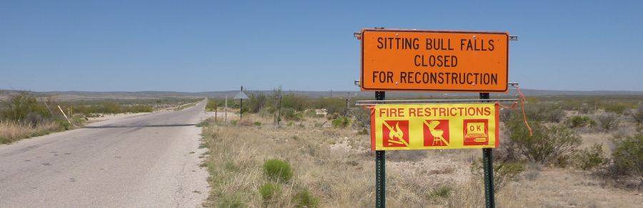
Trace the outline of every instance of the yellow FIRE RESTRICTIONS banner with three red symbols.
<instances>
[{"instance_id":1,"label":"yellow FIRE RESTRICTIONS banner with three red symbols","mask_svg":"<svg viewBox=\"0 0 643 208\"><path fill-rule=\"evenodd\" d=\"M371 108L373 150L495 148L497 103L386 104Z\"/></svg>"}]
</instances>

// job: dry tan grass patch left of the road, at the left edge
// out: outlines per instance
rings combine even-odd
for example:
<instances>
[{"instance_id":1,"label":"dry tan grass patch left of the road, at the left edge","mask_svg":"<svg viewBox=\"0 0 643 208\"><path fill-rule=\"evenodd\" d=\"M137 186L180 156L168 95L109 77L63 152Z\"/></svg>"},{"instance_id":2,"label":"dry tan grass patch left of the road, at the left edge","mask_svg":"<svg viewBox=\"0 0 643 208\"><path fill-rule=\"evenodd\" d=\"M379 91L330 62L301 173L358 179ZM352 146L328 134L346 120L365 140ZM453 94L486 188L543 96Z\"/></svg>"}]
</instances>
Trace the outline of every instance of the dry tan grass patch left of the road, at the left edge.
<instances>
[{"instance_id":1,"label":"dry tan grass patch left of the road, at the left edge","mask_svg":"<svg viewBox=\"0 0 643 208\"><path fill-rule=\"evenodd\" d=\"M56 132L59 130L59 125L51 121L39 123L39 125L33 126L1 120L0 144L9 144L24 138L47 135L50 132Z\"/></svg>"}]
</instances>

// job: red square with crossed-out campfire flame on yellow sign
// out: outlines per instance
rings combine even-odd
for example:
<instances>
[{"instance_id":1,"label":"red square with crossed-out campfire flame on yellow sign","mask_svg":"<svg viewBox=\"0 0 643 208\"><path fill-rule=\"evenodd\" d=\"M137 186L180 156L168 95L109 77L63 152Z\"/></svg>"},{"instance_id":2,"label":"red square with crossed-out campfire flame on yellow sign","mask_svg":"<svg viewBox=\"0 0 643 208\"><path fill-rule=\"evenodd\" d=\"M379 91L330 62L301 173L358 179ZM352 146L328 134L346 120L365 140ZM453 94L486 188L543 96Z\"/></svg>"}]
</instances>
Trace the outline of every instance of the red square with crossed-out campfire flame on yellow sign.
<instances>
[{"instance_id":1,"label":"red square with crossed-out campfire flame on yellow sign","mask_svg":"<svg viewBox=\"0 0 643 208\"><path fill-rule=\"evenodd\" d=\"M382 123L382 134L384 137L384 147L408 147L409 121L384 120L384 123Z\"/></svg>"}]
</instances>

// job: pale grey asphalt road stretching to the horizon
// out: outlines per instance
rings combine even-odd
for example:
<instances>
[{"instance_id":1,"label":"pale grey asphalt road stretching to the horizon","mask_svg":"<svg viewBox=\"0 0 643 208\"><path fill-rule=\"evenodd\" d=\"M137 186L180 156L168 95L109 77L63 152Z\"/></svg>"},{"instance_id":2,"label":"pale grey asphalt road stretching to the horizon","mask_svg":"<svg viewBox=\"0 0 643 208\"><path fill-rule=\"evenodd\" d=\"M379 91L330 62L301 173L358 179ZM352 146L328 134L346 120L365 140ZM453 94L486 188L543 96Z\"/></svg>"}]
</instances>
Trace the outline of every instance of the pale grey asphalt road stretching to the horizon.
<instances>
[{"instance_id":1,"label":"pale grey asphalt road stretching to the horizon","mask_svg":"<svg viewBox=\"0 0 643 208\"><path fill-rule=\"evenodd\" d=\"M0 207L200 207L204 106L0 145Z\"/></svg>"}]
</instances>

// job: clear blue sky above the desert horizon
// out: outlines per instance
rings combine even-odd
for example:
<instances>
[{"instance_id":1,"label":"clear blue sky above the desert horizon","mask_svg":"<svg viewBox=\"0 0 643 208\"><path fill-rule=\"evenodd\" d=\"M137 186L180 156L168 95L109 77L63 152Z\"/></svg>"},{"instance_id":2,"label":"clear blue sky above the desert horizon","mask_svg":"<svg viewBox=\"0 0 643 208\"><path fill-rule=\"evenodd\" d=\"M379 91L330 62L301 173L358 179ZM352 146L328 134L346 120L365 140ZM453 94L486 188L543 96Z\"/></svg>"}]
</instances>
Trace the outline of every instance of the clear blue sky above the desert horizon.
<instances>
[{"instance_id":1,"label":"clear blue sky above the desert horizon","mask_svg":"<svg viewBox=\"0 0 643 208\"><path fill-rule=\"evenodd\" d=\"M0 1L0 89L359 90L362 28L507 31L509 81L643 91L643 1Z\"/></svg>"}]
</instances>

